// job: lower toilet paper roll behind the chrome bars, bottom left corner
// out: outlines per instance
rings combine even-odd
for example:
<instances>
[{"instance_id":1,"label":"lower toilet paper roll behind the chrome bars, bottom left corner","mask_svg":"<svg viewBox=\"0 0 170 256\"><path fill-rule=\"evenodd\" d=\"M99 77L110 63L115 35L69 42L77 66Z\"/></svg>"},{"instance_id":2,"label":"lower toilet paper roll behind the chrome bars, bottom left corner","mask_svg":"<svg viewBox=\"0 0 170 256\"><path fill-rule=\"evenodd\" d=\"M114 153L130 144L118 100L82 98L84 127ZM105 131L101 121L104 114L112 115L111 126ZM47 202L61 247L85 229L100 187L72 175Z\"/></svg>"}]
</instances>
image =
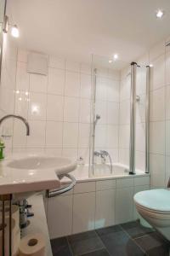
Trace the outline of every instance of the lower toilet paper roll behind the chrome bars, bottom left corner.
<instances>
[{"instance_id":1,"label":"lower toilet paper roll behind the chrome bars, bottom left corner","mask_svg":"<svg viewBox=\"0 0 170 256\"><path fill-rule=\"evenodd\" d=\"M12 218L12 252L13 255L17 253L18 247L17 247L17 239L16 239L16 232L14 230L15 227L15 221L14 218ZM9 218L5 219L5 255L9 255ZM20 232L17 235L18 240L20 239ZM19 241L18 241L19 244ZM0 223L0 248L3 247L3 224ZM2 256L2 249L0 249L0 256Z\"/></svg>"}]
</instances>

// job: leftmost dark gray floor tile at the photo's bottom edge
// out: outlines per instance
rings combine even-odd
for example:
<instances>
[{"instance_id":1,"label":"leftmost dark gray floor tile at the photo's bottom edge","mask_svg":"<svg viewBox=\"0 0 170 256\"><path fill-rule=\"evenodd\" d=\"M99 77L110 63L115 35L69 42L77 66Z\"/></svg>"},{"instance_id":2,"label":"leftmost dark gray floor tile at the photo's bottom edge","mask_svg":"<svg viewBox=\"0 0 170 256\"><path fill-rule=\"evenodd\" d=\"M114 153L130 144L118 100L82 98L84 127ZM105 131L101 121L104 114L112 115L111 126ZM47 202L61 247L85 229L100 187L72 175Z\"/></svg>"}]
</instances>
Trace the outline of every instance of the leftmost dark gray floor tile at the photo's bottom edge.
<instances>
[{"instance_id":1,"label":"leftmost dark gray floor tile at the photo's bottom edge","mask_svg":"<svg viewBox=\"0 0 170 256\"><path fill-rule=\"evenodd\" d=\"M71 256L71 250L65 237L51 240L53 256Z\"/></svg>"}]
</instances>

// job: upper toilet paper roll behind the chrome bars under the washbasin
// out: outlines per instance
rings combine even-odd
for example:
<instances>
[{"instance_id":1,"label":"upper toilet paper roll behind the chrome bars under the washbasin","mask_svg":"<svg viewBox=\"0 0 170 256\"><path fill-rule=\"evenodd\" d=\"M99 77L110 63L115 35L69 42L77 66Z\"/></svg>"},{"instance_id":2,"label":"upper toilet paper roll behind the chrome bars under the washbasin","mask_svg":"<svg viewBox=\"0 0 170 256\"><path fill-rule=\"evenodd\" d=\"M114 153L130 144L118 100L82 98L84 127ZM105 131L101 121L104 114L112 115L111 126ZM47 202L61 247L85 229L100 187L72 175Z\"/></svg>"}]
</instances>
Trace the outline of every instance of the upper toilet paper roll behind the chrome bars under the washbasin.
<instances>
[{"instance_id":1,"label":"upper toilet paper roll behind the chrome bars under the washbasin","mask_svg":"<svg viewBox=\"0 0 170 256\"><path fill-rule=\"evenodd\" d=\"M18 230L20 229L20 212L19 212L19 207L12 205L12 218L14 218L15 220L15 229L16 232L18 232ZM2 212L3 209L2 207L0 207L0 222L2 222ZM5 206L5 218L9 218L9 206L6 205Z\"/></svg>"}]
</instances>

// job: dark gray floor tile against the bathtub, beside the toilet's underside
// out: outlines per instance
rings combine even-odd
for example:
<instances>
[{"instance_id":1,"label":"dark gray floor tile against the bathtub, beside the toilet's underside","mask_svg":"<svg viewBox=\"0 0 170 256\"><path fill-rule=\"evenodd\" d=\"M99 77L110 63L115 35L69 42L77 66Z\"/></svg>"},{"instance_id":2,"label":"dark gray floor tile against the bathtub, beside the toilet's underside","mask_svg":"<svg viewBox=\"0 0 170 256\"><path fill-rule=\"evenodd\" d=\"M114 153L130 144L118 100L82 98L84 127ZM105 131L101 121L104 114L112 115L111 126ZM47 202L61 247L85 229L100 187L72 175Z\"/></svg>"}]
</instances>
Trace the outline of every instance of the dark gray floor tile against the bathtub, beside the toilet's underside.
<instances>
[{"instance_id":1,"label":"dark gray floor tile against the bathtub, beside the toilet's underside","mask_svg":"<svg viewBox=\"0 0 170 256\"><path fill-rule=\"evenodd\" d=\"M122 229L126 230L128 235L133 238L144 236L145 234L149 234L154 231L153 229L145 228L139 224L138 221L128 222L126 224L122 224L121 226Z\"/></svg>"}]
</instances>

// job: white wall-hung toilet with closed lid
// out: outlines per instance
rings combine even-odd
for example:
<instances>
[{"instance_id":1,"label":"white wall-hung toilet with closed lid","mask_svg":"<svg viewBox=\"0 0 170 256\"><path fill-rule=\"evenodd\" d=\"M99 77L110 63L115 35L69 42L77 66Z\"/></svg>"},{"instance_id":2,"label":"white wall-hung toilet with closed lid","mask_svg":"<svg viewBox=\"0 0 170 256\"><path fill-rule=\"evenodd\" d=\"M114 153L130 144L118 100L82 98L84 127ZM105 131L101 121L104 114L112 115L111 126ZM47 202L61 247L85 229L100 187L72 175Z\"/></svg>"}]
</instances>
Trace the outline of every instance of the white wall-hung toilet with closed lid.
<instances>
[{"instance_id":1,"label":"white wall-hung toilet with closed lid","mask_svg":"<svg viewBox=\"0 0 170 256\"><path fill-rule=\"evenodd\" d=\"M170 190L141 191L133 199L139 214L170 241Z\"/></svg>"}]
</instances>

